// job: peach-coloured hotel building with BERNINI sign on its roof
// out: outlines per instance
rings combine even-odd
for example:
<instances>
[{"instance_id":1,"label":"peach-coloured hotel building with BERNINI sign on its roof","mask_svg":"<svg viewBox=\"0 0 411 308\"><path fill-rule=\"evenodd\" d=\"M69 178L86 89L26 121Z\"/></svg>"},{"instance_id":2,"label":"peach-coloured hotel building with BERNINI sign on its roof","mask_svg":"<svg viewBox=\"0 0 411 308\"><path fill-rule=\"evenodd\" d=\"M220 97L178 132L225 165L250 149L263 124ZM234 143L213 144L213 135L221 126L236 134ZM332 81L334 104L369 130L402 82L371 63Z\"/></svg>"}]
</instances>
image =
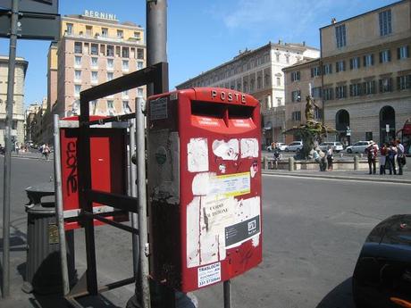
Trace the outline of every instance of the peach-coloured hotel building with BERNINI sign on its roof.
<instances>
[{"instance_id":1,"label":"peach-coloured hotel building with BERNINI sign on its roof","mask_svg":"<svg viewBox=\"0 0 411 308\"><path fill-rule=\"evenodd\" d=\"M144 29L132 22L117 21L115 15L85 11L62 17L59 42L47 55L47 111L43 129L52 132L53 116L78 115L80 92L146 67ZM134 111L138 87L90 103L91 115L118 115ZM45 136L50 141L52 135Z\"/></svg>"}]
</instances>

